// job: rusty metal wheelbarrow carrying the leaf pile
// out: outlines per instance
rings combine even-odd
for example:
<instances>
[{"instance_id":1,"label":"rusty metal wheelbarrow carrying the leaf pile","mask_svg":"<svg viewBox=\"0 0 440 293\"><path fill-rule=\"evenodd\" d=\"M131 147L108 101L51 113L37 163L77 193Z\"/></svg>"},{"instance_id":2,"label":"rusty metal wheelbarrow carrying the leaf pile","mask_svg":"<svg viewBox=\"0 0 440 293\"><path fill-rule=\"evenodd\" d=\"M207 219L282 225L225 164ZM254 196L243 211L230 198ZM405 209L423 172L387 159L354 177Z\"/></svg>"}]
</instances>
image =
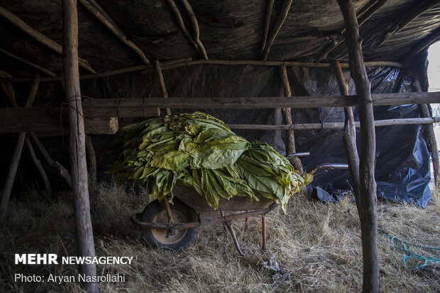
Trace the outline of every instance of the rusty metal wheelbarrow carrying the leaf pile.
<instances>
[{"instance_id":1,"label":"rusty metal wheelbarrow carrying the leaf pile","mask_svg":"<svg viewBox=\"0 0 440 293\"><path fill-rule=\"evenodd\" d=\"M347 169L346 164L322 164L314 167L309 172L329 169ZM250 201L248 197L232 197L231 199L219 199L219 208L214 210L207 201L202 199L195 189L176 184L172 189L174 195L173 204L170 206L168 197L162 201L154 200L148 204L142 213L133 214L131 222L141 228L143 239L152 248L165 248L169 250L183 250L191 245L199 226L223 223L225 229L231 233L232 240L238 253L244 256L238 244L236 233L233 230L232 221L246 219L245 227L248 226L249 218L261 216L262 221L262 250L266 245L266 218L268 212L278 205L272 199L266 199L255 192L259 201ZM226 215L225 211L237 212Z\"/></svg>"}]
</instances>

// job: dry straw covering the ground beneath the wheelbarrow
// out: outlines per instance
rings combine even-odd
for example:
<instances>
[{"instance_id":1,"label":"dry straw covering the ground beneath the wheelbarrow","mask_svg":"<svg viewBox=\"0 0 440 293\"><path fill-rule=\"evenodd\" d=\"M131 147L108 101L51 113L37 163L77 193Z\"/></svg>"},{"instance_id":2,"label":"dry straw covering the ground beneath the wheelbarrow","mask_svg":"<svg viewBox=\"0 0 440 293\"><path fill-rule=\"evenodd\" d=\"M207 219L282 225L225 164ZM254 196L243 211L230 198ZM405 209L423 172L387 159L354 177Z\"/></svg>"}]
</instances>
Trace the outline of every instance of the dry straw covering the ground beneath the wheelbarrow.
<instances>
[{"instance_id":1,"label":"dry straw covering the ground beneath the wheelbarrow","mask_svg":"<svg viewBox=\"0 0 440 293\"><path fill-rule=\"evenodd\" d=\"M126 282L101 283L101 292L359 292L362 253L356 206L351 197L321 204L297 194L288 214L268 214L268 247L260 250L260 219L251 219L246 233L236 221L246 258L237 256L231 237L221 225L200 228L196 242L182 253L152 250L128 221L147 199L139 190L93 187L92 206L104 207L95 216L98 256L133 256L132 265L99 265L99 274L125 274ZM13 275L74 275L75 265L13 265L14 253L75 255L75 227L69 193L56 199L30 192L12 201L0 227L0 292L82 292L79 284L20 283ZM382 231L409 243L440 246L440 199L427 209L387 201L378 203ZM440 264L408 270L402 251L390 238L378 236L380 285L383 292L439 292ZM409 248L440 258L439 250Z\"/></svg>"}]
</instances>

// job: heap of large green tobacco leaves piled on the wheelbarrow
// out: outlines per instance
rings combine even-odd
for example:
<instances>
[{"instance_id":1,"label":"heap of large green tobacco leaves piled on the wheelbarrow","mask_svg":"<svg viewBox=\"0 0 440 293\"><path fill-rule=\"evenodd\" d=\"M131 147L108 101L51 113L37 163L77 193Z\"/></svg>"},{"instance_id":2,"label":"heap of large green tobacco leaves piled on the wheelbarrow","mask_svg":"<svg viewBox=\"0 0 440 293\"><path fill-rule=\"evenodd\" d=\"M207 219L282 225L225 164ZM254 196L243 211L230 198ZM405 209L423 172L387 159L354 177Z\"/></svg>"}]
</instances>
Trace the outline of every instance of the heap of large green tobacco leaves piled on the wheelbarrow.
<instances>
[{"instance_id":1,"label":"heap of large green tobacco leaves piled on the wheelbarrow","mask_svg":"<svg viewBox=\"0 0 440 293\"><path fill-rule=\"evenodd\" d=\"M200 112L126 126L110 153L114 163L108 172L118 186L137 180L150 197L170 193L172 199L175 184L184 184L214 209L221 197L258 200L258 192L285 210L290 195L313 179L266 143L249 143L223 121Z\"/></svg>"}]
</instances>

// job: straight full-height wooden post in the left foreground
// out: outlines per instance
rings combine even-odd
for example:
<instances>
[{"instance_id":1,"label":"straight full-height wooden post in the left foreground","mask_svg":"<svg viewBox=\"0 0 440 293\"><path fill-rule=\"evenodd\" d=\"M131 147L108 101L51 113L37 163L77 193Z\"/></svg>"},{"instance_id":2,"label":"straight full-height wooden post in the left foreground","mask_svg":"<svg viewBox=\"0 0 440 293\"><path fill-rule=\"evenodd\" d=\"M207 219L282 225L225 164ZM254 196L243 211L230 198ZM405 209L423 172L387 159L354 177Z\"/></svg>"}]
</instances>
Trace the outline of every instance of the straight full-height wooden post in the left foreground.
<instances>
[{"instance_id":1,"label":"straight full-height wooden post in the left foreground","mask_svg":"<svg viewBox=\"0 0 440 293\"><path fill-rule=\"evenodd\" d=\"M78 254L94 257L92 221L85 150L84 119L78 69L78 14L76 0L62 0L62 65L65 77L65 97L69 119L69 155L75 206L75 227ZM79 273L94 277L94 264L79 265ZM87 292L99 292L97 282L82 284Z\"/></svg>"}]
</instances>

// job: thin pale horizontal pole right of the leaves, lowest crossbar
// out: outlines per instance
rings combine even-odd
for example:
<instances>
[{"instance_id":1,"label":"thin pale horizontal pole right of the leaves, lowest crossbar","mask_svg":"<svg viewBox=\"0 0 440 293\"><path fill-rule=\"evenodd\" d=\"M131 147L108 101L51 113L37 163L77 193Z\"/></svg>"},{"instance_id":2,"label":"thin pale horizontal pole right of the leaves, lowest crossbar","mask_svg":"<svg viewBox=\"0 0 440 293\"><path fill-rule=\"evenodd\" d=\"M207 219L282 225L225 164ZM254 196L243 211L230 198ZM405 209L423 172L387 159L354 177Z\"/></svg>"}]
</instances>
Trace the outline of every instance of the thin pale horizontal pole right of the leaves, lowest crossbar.
<instances>
[{"instance_id":1,"label":"thin pale horizontal pole right of the leaves, lowest crossbar","mask_svg":"<svg viewBox=\"0 0 440 293\"><path fill-rule=\"evenodd\" d=\"M374 121L375 127L392 126L392 125L422 125L439 123L440 117L429 118L400 118L400 119L386 119ZM298 123L298 124L279 124L279 125L263 125L263 124L226 124L232 129L247 129L247 130L265 130L265 131L288 131L288 130L306 130L306 129L342 129L344 122L329 122L329 123ZM361 127L358 121L355 122L356 127Z\"/></svg>"}]
</instances>

